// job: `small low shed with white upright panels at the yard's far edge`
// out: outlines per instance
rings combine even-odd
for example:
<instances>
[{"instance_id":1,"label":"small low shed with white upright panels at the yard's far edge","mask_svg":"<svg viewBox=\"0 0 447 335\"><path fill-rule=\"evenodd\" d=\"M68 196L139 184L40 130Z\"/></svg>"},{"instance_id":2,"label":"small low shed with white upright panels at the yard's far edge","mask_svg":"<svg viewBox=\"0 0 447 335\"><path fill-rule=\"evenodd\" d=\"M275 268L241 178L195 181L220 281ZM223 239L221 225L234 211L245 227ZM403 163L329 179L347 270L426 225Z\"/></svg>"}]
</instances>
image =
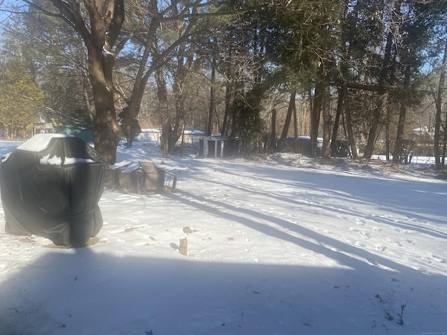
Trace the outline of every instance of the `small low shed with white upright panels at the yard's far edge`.
<instances>
[{"instance_id":1,"label":"small low shed with white upright panels at the yard's far edge","mask_svg":"<svg viewBox=\"0 0 447 335\"><path fill-rule=\"evenodd\" d=\"M229 136L204 136L199 140L199 156L223 158L239 152L239 140Z\"/></svg>"}]
</instances>

